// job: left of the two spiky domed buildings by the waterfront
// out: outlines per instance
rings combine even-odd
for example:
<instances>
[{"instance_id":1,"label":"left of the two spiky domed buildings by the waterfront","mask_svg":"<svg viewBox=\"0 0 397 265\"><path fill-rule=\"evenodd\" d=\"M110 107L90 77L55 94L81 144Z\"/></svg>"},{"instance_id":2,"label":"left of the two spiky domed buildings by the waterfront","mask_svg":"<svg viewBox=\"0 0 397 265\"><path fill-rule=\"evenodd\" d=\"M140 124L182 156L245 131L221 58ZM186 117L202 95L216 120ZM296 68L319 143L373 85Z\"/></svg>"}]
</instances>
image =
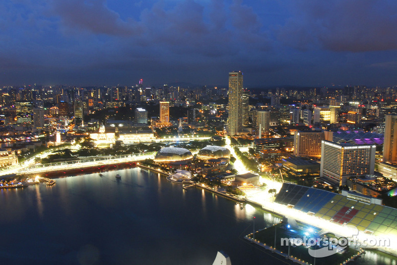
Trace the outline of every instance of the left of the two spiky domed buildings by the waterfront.
<instances>
[{"instance_id":1,"label":"left of the two spiky domed buildings by the waterfront","mask_svg":"<svg viewBox=\"0 0 397 265\"><path fill-rule=\"evenodd\" d=\"M160 149L154 157L154 162L174 165L186 165L193 158L192 152L185 148L165 147Z\"/></svg>"}]
</instances>

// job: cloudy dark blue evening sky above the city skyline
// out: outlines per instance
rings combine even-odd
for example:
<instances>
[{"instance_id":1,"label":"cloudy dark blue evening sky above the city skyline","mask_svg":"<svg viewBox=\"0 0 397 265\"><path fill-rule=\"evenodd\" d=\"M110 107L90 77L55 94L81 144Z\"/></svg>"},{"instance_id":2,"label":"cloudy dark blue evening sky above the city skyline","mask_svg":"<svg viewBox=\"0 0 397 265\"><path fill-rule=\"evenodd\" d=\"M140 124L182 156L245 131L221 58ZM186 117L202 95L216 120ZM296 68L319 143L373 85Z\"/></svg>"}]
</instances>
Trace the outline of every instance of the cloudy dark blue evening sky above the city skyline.
<instances>
[{"instance_id":1,"label":"cloudy dark blue evening sky above the city skyline","mask_svg":"<svg viewBox=\"0 0 397 265\"><path fill-rule=\"evenodd\" d=\"M397 85L396 0L1 0L0 85Z\"/></svg>"}]
</instances>

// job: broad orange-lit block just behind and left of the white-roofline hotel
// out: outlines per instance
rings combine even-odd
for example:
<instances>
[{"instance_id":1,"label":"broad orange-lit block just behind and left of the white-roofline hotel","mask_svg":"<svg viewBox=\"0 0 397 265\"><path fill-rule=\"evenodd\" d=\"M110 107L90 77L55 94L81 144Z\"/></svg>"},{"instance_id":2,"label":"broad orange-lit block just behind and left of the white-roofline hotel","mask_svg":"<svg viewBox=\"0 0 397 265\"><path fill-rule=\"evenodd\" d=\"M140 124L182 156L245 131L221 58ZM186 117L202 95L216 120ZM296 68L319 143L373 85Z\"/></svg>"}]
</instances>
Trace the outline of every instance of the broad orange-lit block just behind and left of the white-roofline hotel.
<instances>
[{"instance_id":1,"label":"broad orange-lit block just behind and left of the white-roofline hotel","mask_svg":"<svg viewBox=\"0 0 397 265\"><path fill-rule=\"evenodd\" d=\"M294 134L294 155L297 157L321 157L323 131L299 131Z\"/></svg>"}]
</instances>

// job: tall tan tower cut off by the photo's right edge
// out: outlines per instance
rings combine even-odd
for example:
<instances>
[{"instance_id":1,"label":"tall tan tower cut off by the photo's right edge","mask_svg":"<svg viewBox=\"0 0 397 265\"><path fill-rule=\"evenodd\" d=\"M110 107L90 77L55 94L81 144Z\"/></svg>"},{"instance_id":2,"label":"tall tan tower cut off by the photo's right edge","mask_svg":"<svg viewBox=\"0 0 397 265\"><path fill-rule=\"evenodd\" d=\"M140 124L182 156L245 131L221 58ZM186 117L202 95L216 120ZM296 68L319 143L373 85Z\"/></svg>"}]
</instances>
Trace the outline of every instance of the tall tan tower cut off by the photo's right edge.
<instances>
[{"instance_id":1,"label":"tall tan tower cut off by the photo's right edge","mask_svg":"<svg viewBox=\"0 0 397 265\"><path fill-rule=\"evenodd\" d=\"M383 162L397 163L397 115L386 115L385 140L383 142Z\"/></svg>"}]
</instances>

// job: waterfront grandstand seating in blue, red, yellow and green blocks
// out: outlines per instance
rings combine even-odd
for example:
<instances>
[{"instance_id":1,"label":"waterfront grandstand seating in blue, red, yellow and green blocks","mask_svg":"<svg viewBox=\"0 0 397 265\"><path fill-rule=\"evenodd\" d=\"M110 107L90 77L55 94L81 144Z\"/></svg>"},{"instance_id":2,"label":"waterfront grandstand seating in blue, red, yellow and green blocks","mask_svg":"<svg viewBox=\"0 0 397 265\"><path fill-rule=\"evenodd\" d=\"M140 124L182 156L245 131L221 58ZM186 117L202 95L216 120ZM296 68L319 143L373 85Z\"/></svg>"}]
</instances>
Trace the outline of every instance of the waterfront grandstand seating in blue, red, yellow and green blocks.
<instances>
[{"instance_id":1,"label":"waterfront grandstand seating in blue, red, yellow and green blocks","mask_svg":"<svg viewBox=\"0 0 397 265\"><path fill-rule=\"evenodd\" d=\"M375 236L397 236L397 209L363 203L330 191L283 183L274 202Z\"/></svg>"}]
</instances>

